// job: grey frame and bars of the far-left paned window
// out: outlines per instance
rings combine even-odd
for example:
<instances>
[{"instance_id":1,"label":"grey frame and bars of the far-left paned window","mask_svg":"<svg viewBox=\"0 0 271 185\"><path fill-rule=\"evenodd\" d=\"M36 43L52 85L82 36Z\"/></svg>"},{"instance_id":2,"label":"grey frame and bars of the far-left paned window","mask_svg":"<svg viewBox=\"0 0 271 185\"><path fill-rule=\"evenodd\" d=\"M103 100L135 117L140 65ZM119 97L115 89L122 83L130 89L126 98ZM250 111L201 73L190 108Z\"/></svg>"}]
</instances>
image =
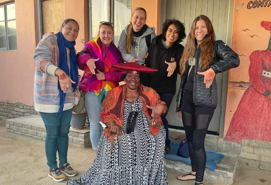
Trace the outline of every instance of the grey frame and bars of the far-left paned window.
<instances>
[{"instance_id":1,"label":"grey frame and bars of the far-left paned window","mask_svg":"<svg viewBox=\"0 0 271 185\"><path fill-rule=\"evenodd\" d=\"M0 8L4 7L4 22L5 22L5 35L1 36L1 37L6 37L6 47L0 48L0 51L16 51L16 50L18 50L18 45L17 45L17 49L9 49L8 37L16 36L16 44L17 44L17 25L16 25L16 35L8 35L8 21L16 21L16 11L15 11L15 19L9 19L9 20L7 19L7 5L10 5L10 4L15 5L15 2L13 1L13 2L9 2L7 4L0 5Z\"/></svg>"}]
</instances>

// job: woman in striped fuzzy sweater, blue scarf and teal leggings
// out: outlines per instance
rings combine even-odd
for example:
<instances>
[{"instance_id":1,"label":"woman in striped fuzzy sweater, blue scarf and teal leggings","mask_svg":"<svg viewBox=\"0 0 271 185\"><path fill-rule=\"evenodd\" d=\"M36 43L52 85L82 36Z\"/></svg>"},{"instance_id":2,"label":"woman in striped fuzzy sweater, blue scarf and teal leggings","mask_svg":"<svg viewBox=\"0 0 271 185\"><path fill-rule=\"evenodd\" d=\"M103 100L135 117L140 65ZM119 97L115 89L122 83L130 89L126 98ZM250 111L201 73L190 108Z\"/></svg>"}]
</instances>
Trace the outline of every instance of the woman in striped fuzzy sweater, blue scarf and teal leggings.
<instances>
[{"instance_id":1,"label":"woman in striped fuzzy sweater, blue scarf and teal leggings","mask_svg":"<svg viewBox=\"0 0 271 185\"><path fill-rule=\"evenodd\" d=\"M66 19L57 34L43 35L34 52L35 110L40 112L46 128L48 176L57 182L77 174L67 162L67 151L72 110L80 98L74 48L78 32L78 23L74 19Z\"/></svg>"}]
</instances>

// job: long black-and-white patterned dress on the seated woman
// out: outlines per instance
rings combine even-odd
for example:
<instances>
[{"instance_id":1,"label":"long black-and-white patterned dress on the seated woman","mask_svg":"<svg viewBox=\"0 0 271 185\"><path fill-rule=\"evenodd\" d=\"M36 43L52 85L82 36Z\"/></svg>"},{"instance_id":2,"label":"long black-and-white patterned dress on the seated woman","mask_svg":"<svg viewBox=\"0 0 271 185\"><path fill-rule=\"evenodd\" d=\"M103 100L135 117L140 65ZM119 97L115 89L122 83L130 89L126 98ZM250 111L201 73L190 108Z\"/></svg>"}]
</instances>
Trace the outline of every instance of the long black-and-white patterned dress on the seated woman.
<instances>
[{"instance_id":1,"label":"long black-and-white patterned dress on the seated woman","mask_svg":"<svg viewBox=\"0 0 271 185\"><path fill-rule=\"evenodd\" d=\"M168 184L164 166L165 129L149 135L150 119L143 112L141 98L124 103L123 131L129 113L137 112L134 131L115 138L114 150L102 134L97 157L91 168L79 180L68 180L68 185L164 185Z\"/></svg>"}]
</instances>

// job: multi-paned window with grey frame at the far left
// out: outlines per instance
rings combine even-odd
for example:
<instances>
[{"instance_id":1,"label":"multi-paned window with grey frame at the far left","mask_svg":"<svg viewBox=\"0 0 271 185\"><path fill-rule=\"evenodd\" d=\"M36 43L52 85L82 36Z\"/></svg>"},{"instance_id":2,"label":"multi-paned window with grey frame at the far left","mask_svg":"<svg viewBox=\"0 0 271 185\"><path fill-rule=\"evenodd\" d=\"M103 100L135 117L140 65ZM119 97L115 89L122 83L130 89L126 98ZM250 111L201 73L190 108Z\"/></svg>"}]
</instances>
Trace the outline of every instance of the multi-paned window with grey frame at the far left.
<instances>
[{"instance_id":1,"label":"multi-paned window with grey frame at the far left","mask_svg":"<svg viewBox=\"0 0 271 185\"><path fill-rule=\"evenodd\" d=\"M15 3L0 5L0 51L16 49Z\"/></svg>"}]
</instances>

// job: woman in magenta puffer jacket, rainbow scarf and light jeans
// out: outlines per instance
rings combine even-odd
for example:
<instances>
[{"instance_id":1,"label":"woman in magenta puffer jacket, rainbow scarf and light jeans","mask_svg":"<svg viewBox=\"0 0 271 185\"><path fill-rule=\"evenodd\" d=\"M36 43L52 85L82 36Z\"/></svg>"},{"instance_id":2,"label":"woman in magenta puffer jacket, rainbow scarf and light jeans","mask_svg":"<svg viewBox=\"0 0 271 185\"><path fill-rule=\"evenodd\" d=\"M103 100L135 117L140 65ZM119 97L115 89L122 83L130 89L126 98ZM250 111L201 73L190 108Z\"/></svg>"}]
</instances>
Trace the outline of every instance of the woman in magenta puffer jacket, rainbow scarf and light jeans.
<instances>
[{"instance_id":1,"label":"woman in magenta puffer jacket, rainbow scarf and light jeans","mask_svg":"<svg viewBox=\"0 0 271 185\"><path fill-rule=\"evenodd\" d=\"M102 101L107 91L117 87L122 81L123 72L111 68L111 64L123 62L121 53L112 42L113 24L100 22L98 37L89 41L77 54L78 67L84 70L79 82L79 90L85 91L85 106L90 123L90 140L92 149L97 153L101 137Z\"/></svg>"}]
</instances>

